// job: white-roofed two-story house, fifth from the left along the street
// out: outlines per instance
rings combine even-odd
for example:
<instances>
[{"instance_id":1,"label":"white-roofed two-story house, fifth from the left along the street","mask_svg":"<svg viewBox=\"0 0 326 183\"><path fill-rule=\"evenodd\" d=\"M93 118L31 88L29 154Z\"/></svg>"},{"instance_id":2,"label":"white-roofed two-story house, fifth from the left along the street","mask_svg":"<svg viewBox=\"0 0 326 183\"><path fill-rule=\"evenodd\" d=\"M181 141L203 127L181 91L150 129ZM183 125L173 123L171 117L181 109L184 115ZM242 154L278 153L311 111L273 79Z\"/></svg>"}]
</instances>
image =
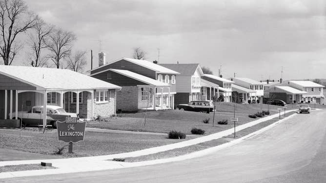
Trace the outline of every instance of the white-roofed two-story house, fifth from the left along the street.
<instances>
[{"instance_id":1,"label":"white-roofed two-story house, fifth from the left along the street","mask_svg":"<svg viewBox=\"0 0 326 183\"><path fill-rule=\"evenodd\" d=\"M240 95L243 95L243 98L246 98L245 101L251 100L250 102L255 103L255 102L258 102L258 100L259 100L259 102L261 102L263 100L264 85L261 82L250 79L250 78L246 78L246 77L231 77L230 80L234 81L235 85L238 85L240 87L250 90L250 91L243 91L243 92L240 91L239 92L239 93L242 93ZM238 91L239 91L239 89L238 89ZM256 91L256 92L252 92L252 91ZM244 95L246 95L246 96L244 97Z\"/></svg>"}]
</instances>

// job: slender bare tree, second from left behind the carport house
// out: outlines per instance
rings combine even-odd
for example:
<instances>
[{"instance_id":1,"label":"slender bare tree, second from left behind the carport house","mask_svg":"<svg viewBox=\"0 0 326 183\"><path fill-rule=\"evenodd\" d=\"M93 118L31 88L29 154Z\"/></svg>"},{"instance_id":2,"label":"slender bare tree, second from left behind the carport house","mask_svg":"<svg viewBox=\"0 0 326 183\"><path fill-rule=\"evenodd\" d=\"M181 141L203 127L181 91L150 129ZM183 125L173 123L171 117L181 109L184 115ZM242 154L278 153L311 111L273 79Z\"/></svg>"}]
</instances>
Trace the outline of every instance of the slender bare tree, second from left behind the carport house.
<instances>
[{"instance_id":1,"label":"slender bare tree, second from left behind the carport house","mask_svg":"<svg viewBox=\"0 0 326 183\"><path fill-rule=\"evenodd\" d=\"M32 67L47 66L47 57L41 55L41 51L47 48L45 41L53 31L53 26L48 25L42 19L36 21L34 32L29 36L29 42L33 54L30 55L29 65Z\"/></svg>"}]
</instances>

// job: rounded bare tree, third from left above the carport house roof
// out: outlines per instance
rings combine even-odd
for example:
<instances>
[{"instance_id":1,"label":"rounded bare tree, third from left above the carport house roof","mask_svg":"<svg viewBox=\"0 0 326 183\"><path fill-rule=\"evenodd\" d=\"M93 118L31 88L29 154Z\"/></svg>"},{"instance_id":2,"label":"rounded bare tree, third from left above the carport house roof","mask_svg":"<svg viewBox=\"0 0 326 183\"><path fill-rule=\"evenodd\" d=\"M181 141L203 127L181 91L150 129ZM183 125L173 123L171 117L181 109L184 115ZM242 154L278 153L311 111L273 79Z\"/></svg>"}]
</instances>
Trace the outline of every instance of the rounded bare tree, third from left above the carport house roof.
<instances>
[{"instance_id":1,"label":"rounded bare tree, third from left above the carport house roof","mask_svg":"<svg viewBox=\"0 0 326 183\"><path fill-rule=\"evenodd\" d=\"M60 66L62 67L61 60L70 55L72 44L76 39L74 33L56 29L49 35L49 40L45 41L50 51L48 58L53 61L58 69Z\"/></svg>"}]
</instances>

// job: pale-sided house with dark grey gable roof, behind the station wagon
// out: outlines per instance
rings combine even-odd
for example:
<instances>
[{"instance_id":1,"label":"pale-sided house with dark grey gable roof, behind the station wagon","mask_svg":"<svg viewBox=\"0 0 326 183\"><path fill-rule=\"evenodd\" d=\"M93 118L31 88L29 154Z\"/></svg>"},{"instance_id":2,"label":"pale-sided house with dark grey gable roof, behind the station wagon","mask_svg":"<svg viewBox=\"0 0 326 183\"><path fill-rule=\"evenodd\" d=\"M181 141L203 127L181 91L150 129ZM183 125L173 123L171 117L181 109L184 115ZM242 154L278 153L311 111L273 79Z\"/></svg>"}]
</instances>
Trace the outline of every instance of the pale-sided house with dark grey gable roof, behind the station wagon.
<instances>
[{"instance_id":1,"label":"pale-sided house with dark grey gable roof, behind the station wagon","mask_svg":"<svg viewBox=\"0 0 326 183\"><path fill-rule=\"evenodd\" d=\"M190 101L196 100L211 100L212 96L209 95L212 95L211 93L218 89L217 84L205 82L204 79L201 79L204 73L199 64L160 65L180 73L178 75L178 83L176 84L175 105L188 104Z\"/></svg>"}]
</instances>

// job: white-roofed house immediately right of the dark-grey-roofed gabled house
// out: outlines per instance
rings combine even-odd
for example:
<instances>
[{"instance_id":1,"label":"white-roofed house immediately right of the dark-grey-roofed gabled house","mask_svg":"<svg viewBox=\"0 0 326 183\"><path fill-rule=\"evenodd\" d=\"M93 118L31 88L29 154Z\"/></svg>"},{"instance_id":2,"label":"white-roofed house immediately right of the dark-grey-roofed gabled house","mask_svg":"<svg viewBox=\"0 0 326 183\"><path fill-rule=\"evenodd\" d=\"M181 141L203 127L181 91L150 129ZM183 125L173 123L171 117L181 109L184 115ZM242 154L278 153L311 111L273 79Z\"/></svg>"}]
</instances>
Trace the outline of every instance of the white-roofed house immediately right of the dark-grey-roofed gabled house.
<instances>
[{"instance_id":1,"label":"white-roofed house immediately right of the dark-grey-roofed gabled house","mask_svg":"<svg viewBox=\"0 0 326 183\"><path fill-rule=\"evenodd\" d=\"M224 102L232 102L232 83L234 83L233 81L212 74L204 74L202 76L202 79L219 85L217 96L223 95Z\"/></svg>"}]
</instances>

